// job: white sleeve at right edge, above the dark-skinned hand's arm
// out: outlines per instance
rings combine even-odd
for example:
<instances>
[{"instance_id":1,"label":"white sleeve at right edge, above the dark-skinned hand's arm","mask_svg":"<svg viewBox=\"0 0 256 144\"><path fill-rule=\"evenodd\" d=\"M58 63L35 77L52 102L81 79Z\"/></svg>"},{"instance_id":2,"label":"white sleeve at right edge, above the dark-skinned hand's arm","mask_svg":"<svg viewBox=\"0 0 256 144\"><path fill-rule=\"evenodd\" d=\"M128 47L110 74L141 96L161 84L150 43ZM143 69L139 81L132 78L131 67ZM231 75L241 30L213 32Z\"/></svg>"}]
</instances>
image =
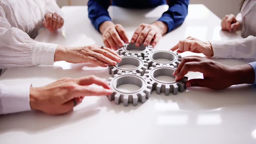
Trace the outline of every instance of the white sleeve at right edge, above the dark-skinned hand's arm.
<instances>
[{"instance_id":1,"label":"white sleeve at right edge, above the dark-skinned hand's arm","mask_svg":"<svg viewBox=\"0 0 256 144\"><path fill-rule=\"evenodd\" d=\"M210 41L214 58L243 58L256 61L256 37L244 39Z\"/></svg>"}]
</instances>

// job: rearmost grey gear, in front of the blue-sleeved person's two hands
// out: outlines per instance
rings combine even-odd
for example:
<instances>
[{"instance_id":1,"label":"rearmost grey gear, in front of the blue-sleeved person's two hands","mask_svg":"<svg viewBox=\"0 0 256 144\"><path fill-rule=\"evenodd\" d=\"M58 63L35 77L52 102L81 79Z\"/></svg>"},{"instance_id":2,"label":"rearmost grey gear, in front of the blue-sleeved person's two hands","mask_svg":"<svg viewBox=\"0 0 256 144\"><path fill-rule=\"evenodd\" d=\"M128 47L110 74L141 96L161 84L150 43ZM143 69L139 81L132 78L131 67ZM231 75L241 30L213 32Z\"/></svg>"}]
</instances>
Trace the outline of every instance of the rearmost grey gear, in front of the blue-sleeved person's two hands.
<instances>
[{"instance_id":1,"label":"rearmost grey gear, in front of the blue-sleeved person's two hands","mask_svg":"<svg viewBox=\"0 0 256 144\"><path fill-rule=\"evenodd\" d=\"M131 50L136 50L136 51L131 51ZM144 46L143 44L141 44L139 47L135 46L135 43L128 43L125 44L123 47L118 49L118 52L120 55L131 55L131 56L138 56L138 57L143 57L146 54L151 53L151 51L153 50L153 46L151 45L147 45Z\"/></svg>"}]
</instances>

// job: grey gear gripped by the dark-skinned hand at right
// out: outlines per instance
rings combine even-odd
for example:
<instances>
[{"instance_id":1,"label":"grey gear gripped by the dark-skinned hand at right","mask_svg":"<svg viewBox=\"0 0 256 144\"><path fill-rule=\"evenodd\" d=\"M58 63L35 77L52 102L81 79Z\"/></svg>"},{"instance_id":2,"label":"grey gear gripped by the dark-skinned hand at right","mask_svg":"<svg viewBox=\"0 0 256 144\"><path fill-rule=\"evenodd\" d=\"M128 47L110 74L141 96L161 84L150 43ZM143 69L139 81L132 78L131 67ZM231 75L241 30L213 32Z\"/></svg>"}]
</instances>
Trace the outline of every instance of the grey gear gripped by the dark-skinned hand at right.
<instances>
[{"instance_id":1,"label":"grey gear gripped by the dark-skinned hand at right","mask_svg":"<svg viewBox=\"0 0 256 144\"><path fill-rule=\"evenodd\" d=\"M150 67L146 70L144 76L149 84L152 84L152 91L156 90L157 94L164 92L165 95L169 95L172 92L176 95L179 92L183 92L185 89L185 83L188 81L188 77L184 76L180 81L164 82L156 79L158 76L170 76L174 77L172 73L175 71L173 66L159 66Z\"/></svg>"}]
</instances>

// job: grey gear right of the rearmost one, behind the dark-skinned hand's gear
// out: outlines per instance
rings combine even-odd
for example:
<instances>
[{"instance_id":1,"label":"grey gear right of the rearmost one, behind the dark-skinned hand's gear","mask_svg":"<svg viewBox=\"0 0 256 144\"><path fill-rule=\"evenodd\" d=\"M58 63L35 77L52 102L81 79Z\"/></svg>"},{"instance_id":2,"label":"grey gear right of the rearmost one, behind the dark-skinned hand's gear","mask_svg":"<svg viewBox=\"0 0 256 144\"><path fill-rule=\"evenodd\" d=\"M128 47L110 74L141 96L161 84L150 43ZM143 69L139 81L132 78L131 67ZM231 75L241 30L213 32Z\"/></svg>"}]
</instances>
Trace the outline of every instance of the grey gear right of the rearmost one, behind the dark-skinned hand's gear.
<instances>
[{"instance_id":1,"label":"grey gear right of the rearmost one, behind the dark-skinned hand's gear","mask_svg":"<svg viewBox=\"0 0 256 144\"><path fill-rule=\"evenodd\" d=\"M151 53L145 55L145 60L148 62L149 67L156 67L156 65L160 66L173 66L177 68L177 66L182 61L182 58L178 53L173 53L172 51L152 51ZM168 62L160 62L157 59L168 59Z\"/></svg>"}]
</instances>

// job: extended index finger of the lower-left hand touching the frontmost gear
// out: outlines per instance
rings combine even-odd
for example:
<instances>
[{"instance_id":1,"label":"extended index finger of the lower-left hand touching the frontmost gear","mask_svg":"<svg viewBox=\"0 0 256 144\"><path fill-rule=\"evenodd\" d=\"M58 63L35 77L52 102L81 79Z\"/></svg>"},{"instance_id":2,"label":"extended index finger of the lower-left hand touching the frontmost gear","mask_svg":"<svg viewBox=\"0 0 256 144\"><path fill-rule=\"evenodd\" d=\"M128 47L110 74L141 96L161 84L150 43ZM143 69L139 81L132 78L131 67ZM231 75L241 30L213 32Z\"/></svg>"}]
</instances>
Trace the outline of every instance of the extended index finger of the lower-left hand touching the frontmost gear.
<instances>
[{"instance_id":1,"label":"extended index finger of the lower-left hand touching the frontmost gear","mask_svg":"<svg viewBox=\"0 0 256 144\"><path fill-rule=\"evenodd\" d=\"M96 77L94 75L79 78L77 80L77 84L83 85L83 86L84 85L96 84L98 86L102 86L105 89L110 89L110 86L106 81L104 81L101 78Z\"/></svg>"}]
</instances>

